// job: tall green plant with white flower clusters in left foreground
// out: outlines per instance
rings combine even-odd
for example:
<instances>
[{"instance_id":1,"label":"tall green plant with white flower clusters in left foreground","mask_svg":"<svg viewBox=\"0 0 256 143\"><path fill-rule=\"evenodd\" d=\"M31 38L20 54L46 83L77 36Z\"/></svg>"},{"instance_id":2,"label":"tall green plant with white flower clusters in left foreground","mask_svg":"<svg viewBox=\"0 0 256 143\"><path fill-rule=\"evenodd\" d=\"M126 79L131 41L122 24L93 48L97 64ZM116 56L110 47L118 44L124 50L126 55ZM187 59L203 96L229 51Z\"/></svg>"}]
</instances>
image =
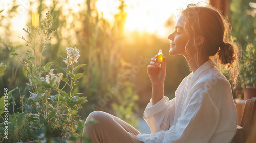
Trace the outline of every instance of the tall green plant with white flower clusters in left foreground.
<instances>
[{"instance_id":1,"label":"tall green plant with white flower clusters in left foreground","mask_svg":"<svg viewBox=\"0 0 256 143\"><path fill-rule=\"evenodd\" d=\"M23 65L23 73L28 78L27 85L30 87L30 97L24 98L22 109L26 110L26 115L31 117L33 122L30 124L37 137L40 140L49 141L51 137L62 137L67 131L81 134L83 130L82 124L77 121L80 117L77 115L82 104L87 102L87 97L82 96L82 93L73 93L72 89L76 85L77 80L83 76L83 73L75 73L75 71L86 64L77 65L80 57L79 50L73 47L67 47L67 58L64 62L67 68L60 67L64 72L55 73L57 69L51 69L54 62L49 62L41 66L41 59L46 43L51 41L52 35L56 30L49 29L52 26L53 17L48 12L46 14L46 21L41 23L43 33L39 27L33 29L27 25L27 29L23 30L28 34L29 40L24 37L21 39L26 41L26 46L30 47L28 50L27 60L22 61L16 49L12 50L11 55L16 56ZM41 49L39 62L37 62L36 51ZM60 84L61 81L63 85ZM62 85L62 87L60 87ZM69 94L64 90L66 85L70 87ZM24 112L24 111L22 111ZM44 142L44 141L43 141Z\"/></svg>"}]
</instances>

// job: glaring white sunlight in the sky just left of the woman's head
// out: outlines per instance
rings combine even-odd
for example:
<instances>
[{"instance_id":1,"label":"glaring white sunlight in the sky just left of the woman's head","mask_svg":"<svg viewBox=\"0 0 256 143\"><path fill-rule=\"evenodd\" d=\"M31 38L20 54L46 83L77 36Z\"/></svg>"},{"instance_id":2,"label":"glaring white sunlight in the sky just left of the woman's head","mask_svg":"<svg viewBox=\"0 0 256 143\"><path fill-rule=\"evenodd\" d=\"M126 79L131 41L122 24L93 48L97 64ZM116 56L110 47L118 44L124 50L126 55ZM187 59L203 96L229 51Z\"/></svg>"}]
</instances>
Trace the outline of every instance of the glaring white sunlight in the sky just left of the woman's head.
<instances>
[{"instance_id":1,"label":"glaring white sunlight in the sky just left of the woman's head","mask_svg":"<svg viewBox=\"0 0 256 143\"><path fill-rule=\"evenodd\" d=\"M125 23L126 32L147 32L156 33L161 37L166 37L173 29L167 29L164 27L165 22L169 17L176 17L177 9L186 8L190 3L198 3L197 1L175 1L175 0L130 0L125 1L126 12L128 14ZM205 0L204 2L207 2ZM120 4L118 0L98 0L96 7L99 13L103 12L103 15L111 23L113 22L113 14L117 13L117 7ZM176 21L177 19L172 19ZM175 24L175 23L174 23Z\"/></svg>"}]
</instances>

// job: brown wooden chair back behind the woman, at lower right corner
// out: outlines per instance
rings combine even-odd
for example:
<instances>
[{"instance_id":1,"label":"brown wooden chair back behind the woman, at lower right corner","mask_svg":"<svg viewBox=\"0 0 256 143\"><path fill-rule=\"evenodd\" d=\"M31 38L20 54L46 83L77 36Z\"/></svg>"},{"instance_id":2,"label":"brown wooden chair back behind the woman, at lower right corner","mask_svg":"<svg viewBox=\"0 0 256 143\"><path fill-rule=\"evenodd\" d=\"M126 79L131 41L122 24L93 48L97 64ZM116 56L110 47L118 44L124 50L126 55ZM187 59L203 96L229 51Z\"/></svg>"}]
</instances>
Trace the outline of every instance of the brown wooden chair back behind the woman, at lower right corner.
<instances>
[{"instance_id":1,"label":"brown wooden chair back behind the woman, at lower right corner","mask_svg":"<svg viewBox=\"0 0 256 143\"><path fill-rule=\"evenodd\" d=\"M234 136L234 143L246 143L249 132L256 124L256 99L248 99L245 102L244 113L240 126L237 126L237 133Z\"/></svg>"}]
</instances>

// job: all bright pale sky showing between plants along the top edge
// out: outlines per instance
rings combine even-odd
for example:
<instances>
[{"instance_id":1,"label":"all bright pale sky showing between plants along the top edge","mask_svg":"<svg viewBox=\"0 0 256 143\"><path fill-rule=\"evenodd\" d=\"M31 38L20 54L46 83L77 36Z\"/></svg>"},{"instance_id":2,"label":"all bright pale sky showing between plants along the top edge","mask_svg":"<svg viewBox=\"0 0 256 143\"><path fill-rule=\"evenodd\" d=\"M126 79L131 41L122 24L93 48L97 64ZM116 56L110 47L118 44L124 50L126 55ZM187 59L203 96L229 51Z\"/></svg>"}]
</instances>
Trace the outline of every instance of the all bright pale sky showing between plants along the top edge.
<instances>
[{"instance_id":1,"label":"all bright pale sky showing between plants along the top edge","mask_svg":"<svg viewBox=\"0 0 256 143\"><path fill-rule=\"evenodd\" d=\"M64 0L59 0L64 1ZM84 0L68 0L69 4L67 8L71 7L74 12L77 11L78 4L83 4ZM190 3L207 2L209 0L125 0L127 5L125 11L127 12L127 18L125 23L126 32L147 32L154 33L160 37L166 38L174 28L166 28L164 25L169 17L173 16L172 21L174 25L177 18L177 10L180 8L186 8ZM30 5L32 2L32 6ZM36 11L33 7L37 7L36 3L33 6L33 2L36 0L16 0L16 3L20 5L17 9L18 13L15 18L12 19L12 30L19 35L22 35L22 28L26 27L28 10L32 7L32 11ZM50 0L45 0L45 4L51 4ZM0 10L10 7L12 0L0 1ZM104 17L110 22L113 21L113 15L118 12L118 6L120 1L118 0L98 0L96 7L99 13L103 12ZM5 11L3 11L4 14ZM67 19L68 20L68 19ZM12 40L11 40L12 41ZM15 42L15 41L14 41Z\"/></svg>"}]
</instances>

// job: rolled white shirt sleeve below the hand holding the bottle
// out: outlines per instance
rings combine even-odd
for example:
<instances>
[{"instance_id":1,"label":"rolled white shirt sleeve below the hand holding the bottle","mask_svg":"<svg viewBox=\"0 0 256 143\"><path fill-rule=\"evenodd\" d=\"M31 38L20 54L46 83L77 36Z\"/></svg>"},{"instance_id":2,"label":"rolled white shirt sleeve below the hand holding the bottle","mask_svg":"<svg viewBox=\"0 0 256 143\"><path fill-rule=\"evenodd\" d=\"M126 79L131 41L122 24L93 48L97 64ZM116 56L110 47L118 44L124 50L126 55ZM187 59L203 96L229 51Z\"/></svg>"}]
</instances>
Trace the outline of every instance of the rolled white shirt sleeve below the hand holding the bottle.
<instances>
[{"instance_id":1,"label":"rolled white shirt sleeve below the hand holding the bottle","mask_svg":"<svg viewBox=\"0 0 256 143\"><path fill-rule=\"evenodd\" d=\"M152 99L144 111L144 120L150 126L152 133L161 130L167 131L170 128L170 122L173 119L175 108L175 98L171 101L168 97L164 96L155 105L152 105Z\"/></svg>"}]
</instances>

